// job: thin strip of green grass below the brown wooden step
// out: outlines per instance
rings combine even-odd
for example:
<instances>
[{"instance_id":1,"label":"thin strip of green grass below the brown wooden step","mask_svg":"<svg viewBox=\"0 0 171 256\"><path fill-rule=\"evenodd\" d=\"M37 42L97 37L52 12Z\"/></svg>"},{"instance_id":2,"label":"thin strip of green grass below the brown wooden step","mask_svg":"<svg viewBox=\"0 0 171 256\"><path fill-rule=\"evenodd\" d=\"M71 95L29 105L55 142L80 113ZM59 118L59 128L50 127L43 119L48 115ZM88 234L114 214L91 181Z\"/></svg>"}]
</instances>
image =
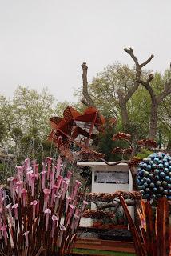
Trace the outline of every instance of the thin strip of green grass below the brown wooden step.
<instances>
[{"instance_id":1,"label":"thin strip of green grass below the brown wooden step","mask_svg":"<svg viewBox=\"0 0 171 256\"><path fill-rule=\"evenodd\" d=\"M74 249L75 253L84 253L93 255L93 254L98 254L98 255L113 255L113 256L135 256L136 254L131 254L131 253L125 253L125 252L115 252L115 251L109 251L109 250L86 250L86 249Z\"/></svg>"}]
</instances>

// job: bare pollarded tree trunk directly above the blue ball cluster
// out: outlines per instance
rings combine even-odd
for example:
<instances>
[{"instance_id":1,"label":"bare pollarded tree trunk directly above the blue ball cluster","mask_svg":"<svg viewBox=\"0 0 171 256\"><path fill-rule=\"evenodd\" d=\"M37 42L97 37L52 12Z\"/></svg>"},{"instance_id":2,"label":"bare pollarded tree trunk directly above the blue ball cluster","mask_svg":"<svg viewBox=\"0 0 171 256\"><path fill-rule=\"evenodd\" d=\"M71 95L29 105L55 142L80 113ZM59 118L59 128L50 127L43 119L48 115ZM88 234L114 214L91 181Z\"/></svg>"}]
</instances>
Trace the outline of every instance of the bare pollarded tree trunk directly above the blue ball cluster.
<instances>
[{"instance_id":1,"label":"bare pollarded tree trunk directly above the blue ball cluster","mask_svg":"<svg viewBox=\"0 0 171 256\"><path fill-rule=\"evenodd\" d=\"M149 123L149 138L156 138L157 133L157 114L158 108L161 102L171 94L171 79L168 82L165 82L163 85L163 91L161 94L156 94L153 87L150 85L150 82L153 80L153 74L149 74L149 78L146 81L138 79L137 82L141 83L142 86L148 90L151 98L151 110L150 110L150 123Z\"/></svg>"}]
</instances>

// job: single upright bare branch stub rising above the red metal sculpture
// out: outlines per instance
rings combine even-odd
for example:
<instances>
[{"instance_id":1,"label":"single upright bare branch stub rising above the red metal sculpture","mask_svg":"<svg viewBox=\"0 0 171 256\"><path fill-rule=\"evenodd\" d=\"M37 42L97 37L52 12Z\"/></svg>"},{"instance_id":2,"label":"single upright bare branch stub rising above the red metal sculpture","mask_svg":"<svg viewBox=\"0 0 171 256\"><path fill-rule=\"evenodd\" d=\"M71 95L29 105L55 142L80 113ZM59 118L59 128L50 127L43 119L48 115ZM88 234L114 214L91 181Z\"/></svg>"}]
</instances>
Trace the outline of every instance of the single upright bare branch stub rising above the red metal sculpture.
<instances>
[{"instance_id":1,"label":"single upright bare branch stub rising above the red metal sculpture","mask_svg":"<svg viewBox=\"0 0 171 256\"><path fill-rule=\"evenodd\" d=\"M88 70L88 66L86 65L85 62L83 62L82 63L82 82L83 82L82 94L85 97L86 102L89 104L89 106L94 106L93 99L91 98L88 92L87 70Z\"/></svg>"}]
</instances>

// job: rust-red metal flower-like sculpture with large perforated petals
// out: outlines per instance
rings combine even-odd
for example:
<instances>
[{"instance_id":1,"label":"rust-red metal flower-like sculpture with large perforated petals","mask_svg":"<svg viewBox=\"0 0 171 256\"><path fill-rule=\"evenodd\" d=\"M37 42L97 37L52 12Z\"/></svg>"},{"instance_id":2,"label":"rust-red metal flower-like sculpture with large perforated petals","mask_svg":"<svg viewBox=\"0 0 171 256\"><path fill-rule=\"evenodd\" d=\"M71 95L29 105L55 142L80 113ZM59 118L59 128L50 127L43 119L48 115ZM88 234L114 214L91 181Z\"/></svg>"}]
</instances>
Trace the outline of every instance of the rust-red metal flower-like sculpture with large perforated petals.
<instances>
[{"instance_id":1,"label":"rust-red metal flower-like sculpture with large perforated petals","mask_svg":"<svg viewBox=\"0 0 171 256\"><path fill-rule=\"evenodd\" d=\"M63 118L50 118L52 140L59 148L70 146L74 142L82 149L88 149L90 142L96 138L99 131L104 130L105 118L95 107L88 107L80 114L72 106L66 107Z\"/></svg>"}]
</instances>

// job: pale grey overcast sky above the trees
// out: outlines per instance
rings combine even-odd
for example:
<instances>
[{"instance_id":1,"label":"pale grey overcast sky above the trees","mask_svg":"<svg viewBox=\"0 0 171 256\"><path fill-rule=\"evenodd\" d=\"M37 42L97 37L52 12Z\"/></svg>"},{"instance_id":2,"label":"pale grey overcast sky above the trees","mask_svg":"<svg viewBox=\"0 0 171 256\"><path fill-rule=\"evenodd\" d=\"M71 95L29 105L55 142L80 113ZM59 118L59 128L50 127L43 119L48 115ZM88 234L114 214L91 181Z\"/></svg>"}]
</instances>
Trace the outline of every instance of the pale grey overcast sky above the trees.
<instances>
[{"instance_id":1,"label":"pale grey overcast sky above the trees","mask_svg":"<svg viewBox=\"0 0 171 256\"><path fill-rule=\"evenodd\" d=\"M18 85L47 86L58 101L76 101L82 62L89 82L108 64L155 58L149 69L171 62L170 0L0 0L0 94Z\"/></svg>"}]
</instances>

